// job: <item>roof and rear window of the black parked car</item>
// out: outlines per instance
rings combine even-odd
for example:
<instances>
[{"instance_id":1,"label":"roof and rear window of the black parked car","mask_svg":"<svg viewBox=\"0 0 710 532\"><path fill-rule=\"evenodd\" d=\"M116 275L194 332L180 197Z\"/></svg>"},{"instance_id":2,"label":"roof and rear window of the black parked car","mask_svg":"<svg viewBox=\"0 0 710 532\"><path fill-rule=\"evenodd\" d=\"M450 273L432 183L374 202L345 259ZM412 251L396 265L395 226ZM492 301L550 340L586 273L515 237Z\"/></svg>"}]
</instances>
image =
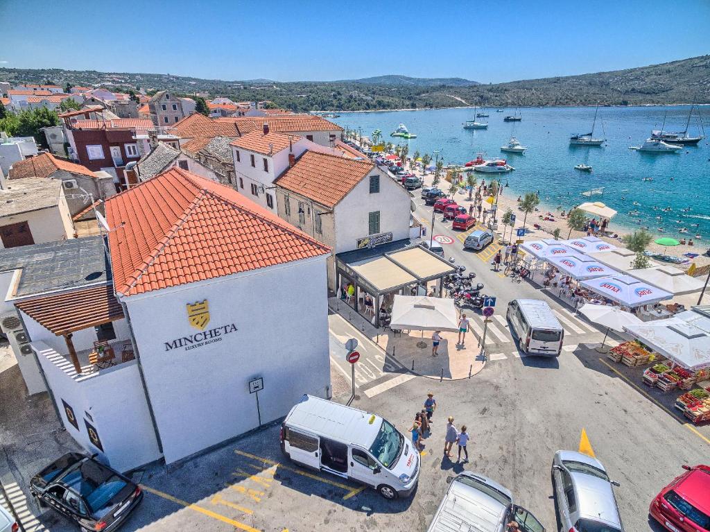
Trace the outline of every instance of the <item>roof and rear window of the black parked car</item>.
<instances>
[{"instance_id":1,"label":"roof and rear window of the black parked car","mask_svg":"<svg viewBox=\"0 0 710 532\"><path fill-rule=\"evenodd\" d=\"M116 501L112 499L127 486L126 481L111 469L93 460L82 462L80 467L63 477L62 482L87 501L92 514L115 504Z\"/></svg>"}]
</instances>

